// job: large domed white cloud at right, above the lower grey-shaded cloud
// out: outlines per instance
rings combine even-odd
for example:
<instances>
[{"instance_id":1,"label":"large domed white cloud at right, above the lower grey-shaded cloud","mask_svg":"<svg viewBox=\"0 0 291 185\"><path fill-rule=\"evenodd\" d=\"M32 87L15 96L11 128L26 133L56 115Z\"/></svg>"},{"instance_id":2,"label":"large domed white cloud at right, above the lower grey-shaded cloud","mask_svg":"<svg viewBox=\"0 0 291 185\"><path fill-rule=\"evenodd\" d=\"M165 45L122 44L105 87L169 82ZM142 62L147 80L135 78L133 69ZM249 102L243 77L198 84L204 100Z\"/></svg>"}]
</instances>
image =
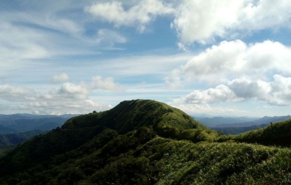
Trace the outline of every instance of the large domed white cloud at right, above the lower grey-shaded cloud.
<instances>
[{"instance_id":1,"label":"large domed white cloud at right, above the lower grey-shaded cloud","mask_svg":"<svg viewBox=\"0 0 291 185\"><path fill-rule=\"evenodd\" d=\"M245 44L241 40L222 41L197 54L167 77L171 86L182 82L225 84L239 76L268 79L291 74L291 48L270 40Z\"/></svg>"}]
</instances>

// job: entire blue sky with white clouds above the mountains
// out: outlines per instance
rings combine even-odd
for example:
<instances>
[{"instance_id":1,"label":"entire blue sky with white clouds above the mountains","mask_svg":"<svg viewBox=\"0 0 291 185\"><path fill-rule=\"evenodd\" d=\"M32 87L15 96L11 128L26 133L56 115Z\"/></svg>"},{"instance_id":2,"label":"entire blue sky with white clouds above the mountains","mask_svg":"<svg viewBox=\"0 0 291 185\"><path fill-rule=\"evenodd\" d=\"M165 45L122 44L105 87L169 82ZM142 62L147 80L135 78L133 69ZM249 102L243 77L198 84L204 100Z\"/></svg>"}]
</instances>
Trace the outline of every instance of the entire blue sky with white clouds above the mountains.
<instances>
[{"instance_id":1,"label":"entire blue sky with white clouds above the mountains","mask_svg":"<svg viewBox=\"0 0 291 185\"><path fill-rule=\"evenodd\" d=\"M290 0L0 0L0 114L289 115L290 35Z\"/></svg>"}]
</instances>

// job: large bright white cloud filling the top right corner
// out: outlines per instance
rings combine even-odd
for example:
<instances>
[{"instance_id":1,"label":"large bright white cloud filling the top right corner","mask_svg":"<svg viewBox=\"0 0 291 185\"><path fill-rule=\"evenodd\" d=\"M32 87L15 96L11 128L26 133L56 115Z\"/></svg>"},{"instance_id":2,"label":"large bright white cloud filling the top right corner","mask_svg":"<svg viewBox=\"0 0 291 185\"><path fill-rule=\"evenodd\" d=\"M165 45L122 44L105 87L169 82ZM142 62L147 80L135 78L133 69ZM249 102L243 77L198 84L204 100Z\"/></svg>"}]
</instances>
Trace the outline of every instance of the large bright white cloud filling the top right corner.
<instances>
[{"instance_id":1,"label":"large bright white cloud filling the top right corner","mask_svg":"<svg viewBox=\"0 0 291 185\"><path fill-rule=\"evenodd\" d=\"M291 26L290 0L183 0L179 4L172 27L180 46Z\"/></svg>"}]
</instances>

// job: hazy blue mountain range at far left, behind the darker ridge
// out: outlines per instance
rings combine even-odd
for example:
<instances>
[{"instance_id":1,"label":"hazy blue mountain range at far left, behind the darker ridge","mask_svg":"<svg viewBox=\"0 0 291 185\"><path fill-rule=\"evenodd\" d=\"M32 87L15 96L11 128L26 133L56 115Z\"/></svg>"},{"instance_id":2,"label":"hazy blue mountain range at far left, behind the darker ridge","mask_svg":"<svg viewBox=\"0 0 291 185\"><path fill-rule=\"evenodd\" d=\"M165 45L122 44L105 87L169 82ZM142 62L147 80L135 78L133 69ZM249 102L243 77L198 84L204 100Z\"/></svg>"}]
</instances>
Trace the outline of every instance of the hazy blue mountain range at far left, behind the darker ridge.
<instances>
[{"instance_id":1,"label":"hazy blue mountain range at far left, behind the darker ridge","mask_svg":"<svg viewBox=\"0 0 291 185\"><path fill-rule=\"evenodd\" d=\"M0 115L0 134L16 134L33 130L47 131L62 126L68 118L78 115Z\"/></svg>"}]
</instances>

